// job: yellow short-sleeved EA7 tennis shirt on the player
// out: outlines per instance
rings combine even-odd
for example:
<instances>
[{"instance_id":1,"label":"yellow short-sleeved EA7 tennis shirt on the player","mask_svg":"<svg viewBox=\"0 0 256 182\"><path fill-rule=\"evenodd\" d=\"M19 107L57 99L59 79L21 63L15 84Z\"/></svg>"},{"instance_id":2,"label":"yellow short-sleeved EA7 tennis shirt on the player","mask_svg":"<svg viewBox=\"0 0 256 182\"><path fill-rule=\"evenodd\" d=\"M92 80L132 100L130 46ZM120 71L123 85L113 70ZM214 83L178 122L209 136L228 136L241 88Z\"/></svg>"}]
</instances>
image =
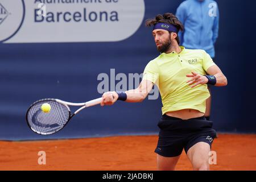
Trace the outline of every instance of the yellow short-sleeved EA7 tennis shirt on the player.
<instances>
[{"instance_id":1,"label":"yellow short-sleeved EA7 tennis shirt on the player","mask_svg":"<svg viewBox=\"0 0 256 182\"><path fill-rule=\"evenodd\" d=\"M181 52L162 53L151 60L143 73L143 80L156 84L162 97L162 113L181 109L196 109L205 113L205 101L210 96L207 84L191 88L186 81L194 71L205 75L215 65L207 52L202 49L185 49Z\"/></svg>"}]
</instances>

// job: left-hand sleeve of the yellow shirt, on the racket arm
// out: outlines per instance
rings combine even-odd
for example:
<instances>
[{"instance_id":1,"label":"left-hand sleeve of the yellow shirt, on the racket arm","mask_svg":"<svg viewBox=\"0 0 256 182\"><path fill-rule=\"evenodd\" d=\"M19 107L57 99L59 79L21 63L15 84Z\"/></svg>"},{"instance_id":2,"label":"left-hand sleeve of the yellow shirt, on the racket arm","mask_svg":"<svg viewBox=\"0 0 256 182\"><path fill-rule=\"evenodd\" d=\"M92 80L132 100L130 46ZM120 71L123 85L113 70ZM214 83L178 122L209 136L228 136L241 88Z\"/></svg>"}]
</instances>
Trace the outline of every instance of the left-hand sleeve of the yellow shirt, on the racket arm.
<instances>
[{"instance_id":1,"label":"left-hand sleeve of the yellow shirt, on the racket arm","mask_svg":"<svg viewBox=\"0 0 256 182\"><path fill-rule=\"evenodd\" d=\"M150 61L143 72L142 80L149 80L152 83L156 83L159 78L159 67L155 61Z\"/></svg>"}]
</instances>

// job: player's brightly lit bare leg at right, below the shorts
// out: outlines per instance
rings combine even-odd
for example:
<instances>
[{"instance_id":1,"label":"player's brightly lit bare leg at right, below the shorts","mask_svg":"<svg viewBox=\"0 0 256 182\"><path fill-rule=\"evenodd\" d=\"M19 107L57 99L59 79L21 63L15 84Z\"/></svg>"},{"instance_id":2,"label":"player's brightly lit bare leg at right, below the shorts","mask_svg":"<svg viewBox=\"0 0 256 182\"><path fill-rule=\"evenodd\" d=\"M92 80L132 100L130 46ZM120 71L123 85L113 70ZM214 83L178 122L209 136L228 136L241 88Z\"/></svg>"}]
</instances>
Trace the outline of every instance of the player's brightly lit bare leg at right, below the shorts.
<instances>
[{"instance_id":1,"label":"player's brightly lit bare leg at right, below the shorts","mask_svg":"<svg viewBox=\"0 0 256 182\"><path fill-rule=\"evenodd\" d=\"M188 159L195 170L209 170L210 145L206 142L198 142L189 148Z\"/></svg>"}]
</instances>

